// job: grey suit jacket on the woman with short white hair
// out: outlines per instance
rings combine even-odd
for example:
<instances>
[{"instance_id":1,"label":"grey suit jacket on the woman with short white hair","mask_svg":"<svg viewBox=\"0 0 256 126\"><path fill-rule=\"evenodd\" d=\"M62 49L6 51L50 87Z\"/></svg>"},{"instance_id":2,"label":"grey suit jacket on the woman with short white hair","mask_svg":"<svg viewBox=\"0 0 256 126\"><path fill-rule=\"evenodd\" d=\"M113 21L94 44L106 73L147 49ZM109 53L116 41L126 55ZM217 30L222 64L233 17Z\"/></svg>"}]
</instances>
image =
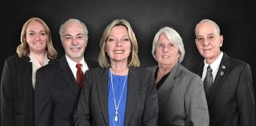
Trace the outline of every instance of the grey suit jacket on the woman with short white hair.
<instances>
[{"instance_id":1,"label":"grey suit jacket on the woman with short white hair","mask_svg":"<svg viewBox=\"0 0 256 126\"><path fill-rule=\"evenodd\" d=\"M149 69L156 72L158 65ZM199 76L177 63L157 90L159 126L208 126L209 113Z\"/></svg>"}]
</instances>

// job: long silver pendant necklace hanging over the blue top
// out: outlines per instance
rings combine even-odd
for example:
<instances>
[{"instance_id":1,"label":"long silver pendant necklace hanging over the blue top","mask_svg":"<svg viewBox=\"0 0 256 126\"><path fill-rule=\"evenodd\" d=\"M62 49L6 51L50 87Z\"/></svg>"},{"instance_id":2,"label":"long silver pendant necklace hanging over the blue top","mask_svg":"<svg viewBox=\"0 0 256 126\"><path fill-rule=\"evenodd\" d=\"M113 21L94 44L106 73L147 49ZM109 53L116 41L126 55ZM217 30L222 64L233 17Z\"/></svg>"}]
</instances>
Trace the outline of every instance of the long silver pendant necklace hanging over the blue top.
<instances>
[{"instance_id":1,"label":"long silver pendant necklace hanging over the blue top","mask_svg":"<svg viewBox=\"0 0 256 126\"><path fill-rule=\"evenodd\" d=\"M111 69L109 69L109 71L111 72ZM128 75L128 70L127 70L127 75ZM127 77L126 75L126 77ZM123 92L123 89L125 87L125 84L126 84L126 78L123 82L123 85L122 85L122 92ZM119 102L118 102L118 105L116 106L116 102L115 102L115 91L114 91L114 84L113 84L113 77L112 77L112 72L111 72L111 85L112 85L112 91L113 91L113 95L114 95L114 103L115 103L115 115L113 116L113 124L115 126L119 126L120 124L120 117L119 117L119 104L120 104L120 101L121 101L121 98L122 98L122 92L121 92L121 95L120 95L120 98L119 98Z\"/></svg>"}]
</instances>

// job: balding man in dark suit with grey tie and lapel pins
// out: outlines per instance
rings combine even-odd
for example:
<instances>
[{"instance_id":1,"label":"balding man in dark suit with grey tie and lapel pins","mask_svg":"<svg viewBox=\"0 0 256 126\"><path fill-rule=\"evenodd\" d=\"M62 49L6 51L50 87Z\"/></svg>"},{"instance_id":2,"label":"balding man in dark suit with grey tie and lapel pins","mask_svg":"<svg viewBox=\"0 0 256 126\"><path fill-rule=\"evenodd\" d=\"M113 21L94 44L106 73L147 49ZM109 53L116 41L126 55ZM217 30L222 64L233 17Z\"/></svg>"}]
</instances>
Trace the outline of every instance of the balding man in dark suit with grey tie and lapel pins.
<instances>
[{"instance_id":1,"label":"balding man in dark suit with grey tie and lapel pins","mask_svg":"<svg viewBox=\"0 0 256 126\"><path fill-rule=\"evenodd\" d=\"M205 81L210 126L255 126L254 87L250 65L220 50L223 35L213 20L201 20L195 43L205 60L190 69ZM210 72L207 68L210 66ZM210 77L208 75L211 75ZM206 80L212 83L207 84ZM208 85L208 86L207 86Z\"/></svg>"}]
</instances>

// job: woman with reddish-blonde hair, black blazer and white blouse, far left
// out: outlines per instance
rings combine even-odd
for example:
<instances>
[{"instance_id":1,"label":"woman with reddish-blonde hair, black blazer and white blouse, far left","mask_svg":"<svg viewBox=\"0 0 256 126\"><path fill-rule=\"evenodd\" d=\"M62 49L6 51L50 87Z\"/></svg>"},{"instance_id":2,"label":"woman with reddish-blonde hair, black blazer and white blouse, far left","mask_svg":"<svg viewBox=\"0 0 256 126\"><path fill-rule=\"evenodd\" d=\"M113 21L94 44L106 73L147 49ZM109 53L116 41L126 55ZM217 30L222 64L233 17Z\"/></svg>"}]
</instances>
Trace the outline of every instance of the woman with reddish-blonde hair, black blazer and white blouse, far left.
<instances>
[{"instance_id":1,"label":"woman with reddish-blonde hair, black blazer and white blouse, far left","mask_svg":"<svg viewBox=\"0 0 256 126\"><path fill-rule=\"evenodd\" d=\"M57 57L51 31L38 17L21 30L17 54L6 59L1 80L1 125L34 126L36 70Z\"/></svg>"}]
</instances>

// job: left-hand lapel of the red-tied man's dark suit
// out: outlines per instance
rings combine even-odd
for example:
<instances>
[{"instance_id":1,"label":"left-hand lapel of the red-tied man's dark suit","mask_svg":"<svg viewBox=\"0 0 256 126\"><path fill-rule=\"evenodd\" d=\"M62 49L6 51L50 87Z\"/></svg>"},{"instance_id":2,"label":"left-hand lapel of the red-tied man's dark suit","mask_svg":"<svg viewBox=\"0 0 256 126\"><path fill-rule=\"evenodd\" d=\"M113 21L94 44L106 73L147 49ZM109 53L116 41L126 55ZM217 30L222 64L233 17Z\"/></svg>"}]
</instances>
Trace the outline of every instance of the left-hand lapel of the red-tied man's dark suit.
<instances>
[{"instance_id":1,"label":"left-hand lapel of the red-tied man's dark suit","mask_svg":"<svg viewBox=\"0 0 256 126\"><path fill-rule=\"evenodd\" d=\"M64 78L64 80L66 80L66 82L69 84L70 88L72 89L74 94L77 94L77 90L79 90L77 81L75 80L73 73L70 69L69 64L66 61L66 56L62 56L60 61L60 69L62 69L62 76Z\"/></svg>"}]
</instances>

